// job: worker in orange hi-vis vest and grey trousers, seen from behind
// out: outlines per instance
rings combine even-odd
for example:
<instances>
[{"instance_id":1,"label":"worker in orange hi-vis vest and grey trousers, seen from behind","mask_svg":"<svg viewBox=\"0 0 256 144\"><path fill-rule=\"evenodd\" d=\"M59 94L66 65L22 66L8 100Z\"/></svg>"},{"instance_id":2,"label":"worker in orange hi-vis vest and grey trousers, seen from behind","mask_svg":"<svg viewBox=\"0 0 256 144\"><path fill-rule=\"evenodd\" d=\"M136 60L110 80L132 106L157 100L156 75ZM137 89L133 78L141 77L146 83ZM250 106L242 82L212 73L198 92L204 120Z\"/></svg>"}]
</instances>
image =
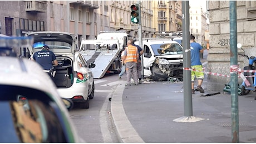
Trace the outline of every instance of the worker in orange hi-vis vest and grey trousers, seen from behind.
<instances>
[{"instance_id":1,"label":"worker in orange hi-vis vest and grey trousers, seen from behind","mask_svg":"<svg viewBox=\"0 0 256 144\"><path fill-rule=\"evenodd\" d=\"M126 78L127 83L125 85L131 86L131 76L134 79L134 84L138 85L137 75L137 61L139 59L139 52L137 47L132 45L131 40L127 41L127 47L124 52L125 66L126 66Z\"/></svg>"}]
</instances>

